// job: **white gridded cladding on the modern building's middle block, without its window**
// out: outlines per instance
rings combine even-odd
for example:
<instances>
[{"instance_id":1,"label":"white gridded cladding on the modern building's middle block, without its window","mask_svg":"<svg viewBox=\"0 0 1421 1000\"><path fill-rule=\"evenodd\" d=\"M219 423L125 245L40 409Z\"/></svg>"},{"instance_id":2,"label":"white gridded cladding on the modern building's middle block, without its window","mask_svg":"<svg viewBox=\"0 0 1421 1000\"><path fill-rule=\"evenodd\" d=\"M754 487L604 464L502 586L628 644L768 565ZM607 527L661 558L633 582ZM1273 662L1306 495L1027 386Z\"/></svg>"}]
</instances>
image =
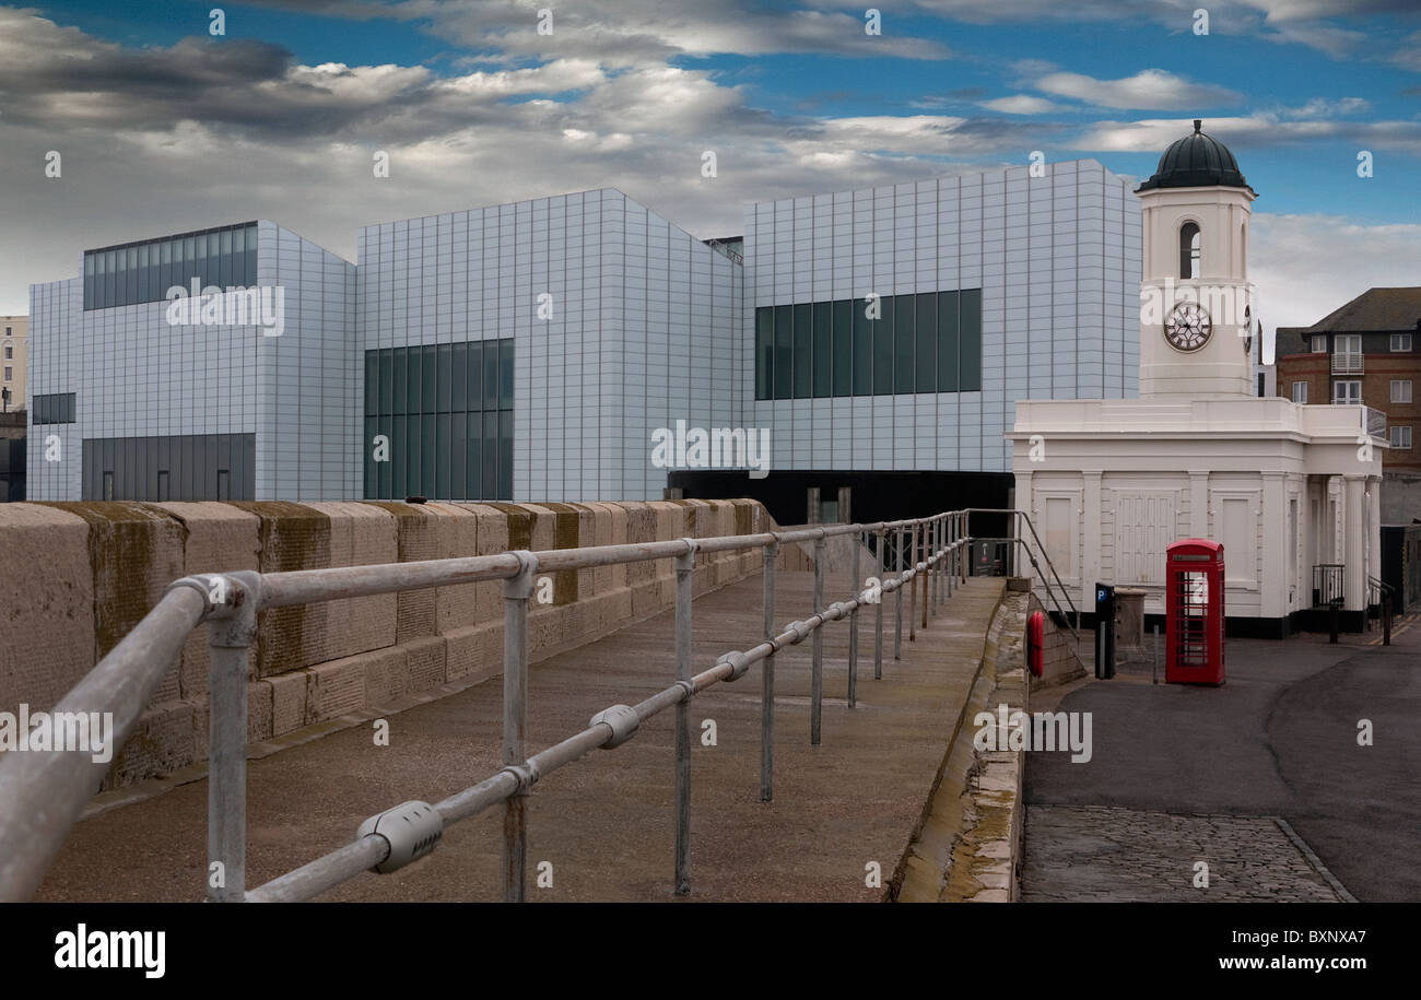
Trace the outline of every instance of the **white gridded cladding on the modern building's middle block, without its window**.
<instances>
[{"instance_id":1,"label":"white gridded cladding on the modern building's middle block, without its window","mask_svg":"<svg viewBox=\"0 0 1421 1000\"><path fill-rule=\"evenodd\" d=\"M659 499L655 429L735 426L739 264L618 190L367 226L358 276L362 352L513 339L513 500Z\"/></svg>"}]
</instances>

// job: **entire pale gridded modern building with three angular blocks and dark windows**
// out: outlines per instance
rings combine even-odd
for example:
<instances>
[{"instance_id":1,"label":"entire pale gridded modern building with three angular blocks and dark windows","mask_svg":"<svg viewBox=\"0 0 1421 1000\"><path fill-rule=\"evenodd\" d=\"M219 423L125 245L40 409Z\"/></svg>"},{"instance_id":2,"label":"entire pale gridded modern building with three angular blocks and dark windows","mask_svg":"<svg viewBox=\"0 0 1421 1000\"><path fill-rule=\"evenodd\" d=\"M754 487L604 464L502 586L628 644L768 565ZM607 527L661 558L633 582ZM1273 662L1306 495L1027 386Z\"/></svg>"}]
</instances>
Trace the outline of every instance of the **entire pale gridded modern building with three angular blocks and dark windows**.
<instances>
[{"instance_id":1,"label":"entire pale gridded modern building with three angular blocks and dark windows","mask_svg":"<svg viewBox=\"0 0 1421 1000\"><path fill-rule=\"evenodd\" d=\"M1016 399L1134 395L1140 267L1094 161L756 203L743 239L598 189L367 226L355 264L267 222L104 247L31 288L30 496L1006 506ZM195 277L284 327L171 322ZM769 476L666 462L678 426L763 433Z\"/></svg>"}]
</instances>

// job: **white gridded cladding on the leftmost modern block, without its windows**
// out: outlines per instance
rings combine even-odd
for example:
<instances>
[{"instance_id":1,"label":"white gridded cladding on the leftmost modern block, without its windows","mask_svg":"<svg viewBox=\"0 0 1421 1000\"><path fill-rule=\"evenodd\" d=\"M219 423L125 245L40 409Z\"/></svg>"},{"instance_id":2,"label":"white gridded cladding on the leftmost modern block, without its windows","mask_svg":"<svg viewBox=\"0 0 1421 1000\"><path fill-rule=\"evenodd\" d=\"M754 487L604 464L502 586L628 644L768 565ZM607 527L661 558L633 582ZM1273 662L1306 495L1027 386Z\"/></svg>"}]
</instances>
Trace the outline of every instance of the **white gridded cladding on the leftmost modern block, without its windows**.
<instances>
[{"instance_id":1,"label":"white gridded cladding on the leftmost modern block, without its windows","mask_svg":"<svg viewBox=\"0 0 1421 1000\"><path fill-rule=\"evenodd\" d=\"M358 496L354 264L259 222L256 268L259 286L281 288L279 337L172 325L166 301L84 310L82 277L31 286L30 391L75 396L72 423L30 429L31 499L84 496L87 439L192 435L253 435L259 500Z\"/></svg>"}]
</instances>

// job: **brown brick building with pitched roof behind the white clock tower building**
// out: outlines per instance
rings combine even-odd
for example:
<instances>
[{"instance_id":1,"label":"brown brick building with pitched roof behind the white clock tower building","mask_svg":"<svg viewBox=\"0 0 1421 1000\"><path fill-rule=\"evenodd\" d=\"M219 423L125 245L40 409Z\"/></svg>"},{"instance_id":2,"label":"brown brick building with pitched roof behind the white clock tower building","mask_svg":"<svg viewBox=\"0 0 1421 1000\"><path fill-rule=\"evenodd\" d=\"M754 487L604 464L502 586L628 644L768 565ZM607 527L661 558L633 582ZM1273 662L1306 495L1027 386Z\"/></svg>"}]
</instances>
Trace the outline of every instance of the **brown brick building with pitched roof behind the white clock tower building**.
<instances>
[{"instance_id":1,"label":"brown brick building with pitched roof behind the white clock tower building","mask_svg":"<svg viewBox=\"0 0 1421 1000\"><path fill-rule=\"evenodd\" d=\"M1387 415L1381 518L1421 517L1421 287L1368 288L1312 327L1279 327L1277 395Z\"/></svg>"}]
</instances>

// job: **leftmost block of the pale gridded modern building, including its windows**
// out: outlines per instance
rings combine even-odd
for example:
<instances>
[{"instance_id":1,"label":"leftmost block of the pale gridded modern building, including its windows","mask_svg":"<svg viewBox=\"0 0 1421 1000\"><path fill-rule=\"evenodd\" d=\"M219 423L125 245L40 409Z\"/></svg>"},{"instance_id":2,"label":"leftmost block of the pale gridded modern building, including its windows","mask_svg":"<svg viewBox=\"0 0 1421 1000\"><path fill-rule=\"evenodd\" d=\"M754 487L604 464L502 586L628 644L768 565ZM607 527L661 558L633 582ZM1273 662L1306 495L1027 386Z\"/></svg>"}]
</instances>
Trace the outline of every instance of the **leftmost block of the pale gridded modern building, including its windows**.
<instances>
[{"instance_id":1,"label":"leftmost block of the pale gridded modern building, including its windows","mask_svg":"<svg viewBox=\"0 0 1421 1000\"><path fill-rule=\"evenodd\" d=\"M193 281L266 291L175 311ZM30 288L28 499L357 496L354 293L270 222L87 250Z\"/></svg>"}]
</instances>

